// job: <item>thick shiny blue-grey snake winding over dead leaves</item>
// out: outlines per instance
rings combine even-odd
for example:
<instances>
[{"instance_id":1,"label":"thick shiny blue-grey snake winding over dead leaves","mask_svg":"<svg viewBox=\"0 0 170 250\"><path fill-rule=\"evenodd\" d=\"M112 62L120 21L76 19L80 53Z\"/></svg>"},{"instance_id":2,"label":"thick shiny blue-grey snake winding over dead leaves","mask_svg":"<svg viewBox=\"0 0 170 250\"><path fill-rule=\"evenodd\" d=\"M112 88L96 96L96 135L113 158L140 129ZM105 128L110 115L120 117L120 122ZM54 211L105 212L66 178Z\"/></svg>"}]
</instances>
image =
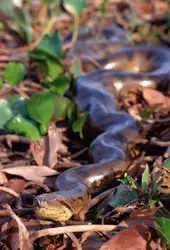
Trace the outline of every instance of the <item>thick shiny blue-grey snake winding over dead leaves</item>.
<instances>
[{"instance_id":1,"label":"thick shiny blue-grey snake winding over dead leaves","mask_svg":"<svg viewBox=\"0 0 170 250\"><path fill-rule=\"evenodd\" d=\"M99 61L101 69L76 80L76 102L82 111L88 110L91 124L100 130L90 145L94 163L64 171L57 177L56 191L36 197L34 209L41 218L69 220L126 170L127 145L139 128L130 114L118 110L115 91L129 84L156 88L168 82L170 49L166 47L125 46Z\"/></svg>"}]
</instances>

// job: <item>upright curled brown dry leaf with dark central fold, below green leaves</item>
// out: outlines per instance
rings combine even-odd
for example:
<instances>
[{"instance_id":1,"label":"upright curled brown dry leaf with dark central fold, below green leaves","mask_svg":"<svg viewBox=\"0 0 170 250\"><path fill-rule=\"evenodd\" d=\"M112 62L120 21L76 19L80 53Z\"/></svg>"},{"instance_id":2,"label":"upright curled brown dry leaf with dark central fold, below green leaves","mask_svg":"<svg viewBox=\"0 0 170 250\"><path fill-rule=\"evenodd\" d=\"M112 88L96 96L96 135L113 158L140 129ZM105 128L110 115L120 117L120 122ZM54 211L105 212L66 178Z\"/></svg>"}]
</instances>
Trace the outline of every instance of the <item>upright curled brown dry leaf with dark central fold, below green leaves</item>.
<instances>
[{"instance_id":1,"label":"upright curled brown dry leaf with dark central fold, below green leaves","mask_svg":"<svg viewBox=\"0 0 170 250\"><path fill-rule=\"evenodd\" d=\"M62 133L54 124L48 127L48 135L31 143L31 151L39 166L46 165L53 168L58 163L58 152L65 150L62 143Z\"/></svg>"}]
</instances>

